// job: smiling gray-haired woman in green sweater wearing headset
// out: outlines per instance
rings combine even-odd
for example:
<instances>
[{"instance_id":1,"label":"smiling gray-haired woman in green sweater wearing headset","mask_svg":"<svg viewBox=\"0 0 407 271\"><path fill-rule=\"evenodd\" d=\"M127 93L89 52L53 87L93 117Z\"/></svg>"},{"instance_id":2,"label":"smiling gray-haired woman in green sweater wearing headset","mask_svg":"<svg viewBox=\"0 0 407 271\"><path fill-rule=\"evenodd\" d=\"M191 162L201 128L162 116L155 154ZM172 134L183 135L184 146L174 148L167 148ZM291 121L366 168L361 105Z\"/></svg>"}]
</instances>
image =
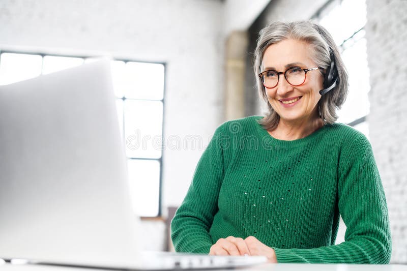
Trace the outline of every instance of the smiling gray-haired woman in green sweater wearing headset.
<instances>
[{"instance_id":1,"label":"smiling gray-haired woman in green sweater wearing headset","mask_svg":"<svg viewBox=\"0 0 407 271\"><path fill-rule=\"evenodd\" d=\"M371 146L335 123L347 74L330 34L307 21L271 23L254 70L268 114L218 127L172 221L176 250L388 263L388 210ZM345 242L334 245L339 215Z\"/></svg>"}]
</instances>

